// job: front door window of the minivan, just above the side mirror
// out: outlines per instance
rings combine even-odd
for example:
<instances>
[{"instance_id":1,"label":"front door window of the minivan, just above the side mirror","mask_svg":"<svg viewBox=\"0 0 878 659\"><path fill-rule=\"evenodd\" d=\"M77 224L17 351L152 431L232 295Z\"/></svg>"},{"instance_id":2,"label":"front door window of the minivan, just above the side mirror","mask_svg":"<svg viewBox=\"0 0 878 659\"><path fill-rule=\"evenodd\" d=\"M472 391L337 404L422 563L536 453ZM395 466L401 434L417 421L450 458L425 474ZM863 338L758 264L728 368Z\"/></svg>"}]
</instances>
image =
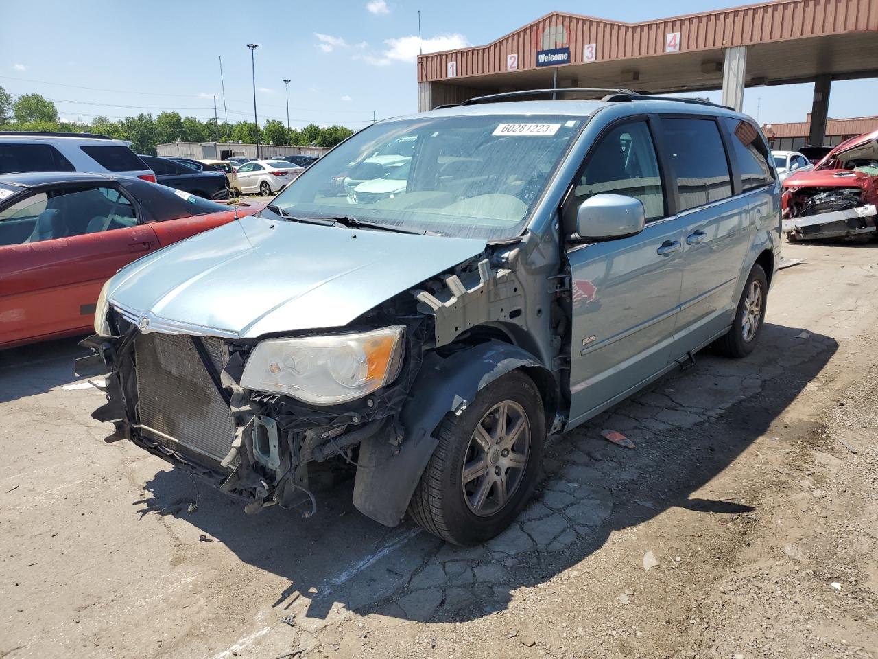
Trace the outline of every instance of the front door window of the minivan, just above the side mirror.
<instances>
[{"instance_id":1,"label":"front door window of the minivan, just above the side mirror","mask_svg":"<svg viewBox=\"0 0 878 659\"><path fill-rule=\"evenodd\" d=\"M665 216L659 160L644 121L610 129L589 154L573 188L577 206L601 192L640 199L647 221Z\"/></svg>"}]
</instances>

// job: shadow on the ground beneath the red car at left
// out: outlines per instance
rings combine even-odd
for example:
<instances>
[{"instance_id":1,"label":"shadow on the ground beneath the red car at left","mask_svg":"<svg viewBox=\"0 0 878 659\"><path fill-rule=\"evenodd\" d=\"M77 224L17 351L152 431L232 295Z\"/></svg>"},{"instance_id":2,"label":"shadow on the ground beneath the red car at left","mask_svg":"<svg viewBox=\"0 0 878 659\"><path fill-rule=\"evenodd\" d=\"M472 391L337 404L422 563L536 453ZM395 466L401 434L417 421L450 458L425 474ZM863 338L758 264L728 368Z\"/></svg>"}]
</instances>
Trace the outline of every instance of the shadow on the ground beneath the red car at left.
<instances>
[{"instance_id":1,"label":"shadow on the ground beneath the red car at left","mask_svg":"<svg viewBox=\"0 0 878 659\"><path fill-rule=\"evenodd\" d=\"M82 380L73 373L73 361L89 354L78 345L83 337L63 338L0 351L0 402L42 394L54 387Z\"/></svg>"}]
</instances>

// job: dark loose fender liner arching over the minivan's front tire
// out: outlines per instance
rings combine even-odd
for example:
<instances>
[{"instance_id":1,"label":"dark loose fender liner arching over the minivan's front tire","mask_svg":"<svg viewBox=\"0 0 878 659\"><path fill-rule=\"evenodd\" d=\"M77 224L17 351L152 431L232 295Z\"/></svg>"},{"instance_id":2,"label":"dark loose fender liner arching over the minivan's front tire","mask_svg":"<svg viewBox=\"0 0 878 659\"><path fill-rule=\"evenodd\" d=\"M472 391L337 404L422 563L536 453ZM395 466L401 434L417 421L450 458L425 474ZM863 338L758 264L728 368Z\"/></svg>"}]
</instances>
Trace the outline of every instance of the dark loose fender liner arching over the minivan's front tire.
<instances>
[{"instance_id":1,"label":"dark loose fender liner arching over the minivan's front tire","mask_svg":"<svg viewBox=\"0 0 878 659\"><path fill-rule=\"evenodd\" d=\"M383 525L399 525L439 443L434 433L443 418L461 414L482 388L522 367L538 369L551 380L549 369L533 355L501 341L465 348L447 358L435 352L425 355L414 395L400 415L402 444L393 445L378 433L360 445L354 483L357 510Z\"/></svg>"}]
</instances>

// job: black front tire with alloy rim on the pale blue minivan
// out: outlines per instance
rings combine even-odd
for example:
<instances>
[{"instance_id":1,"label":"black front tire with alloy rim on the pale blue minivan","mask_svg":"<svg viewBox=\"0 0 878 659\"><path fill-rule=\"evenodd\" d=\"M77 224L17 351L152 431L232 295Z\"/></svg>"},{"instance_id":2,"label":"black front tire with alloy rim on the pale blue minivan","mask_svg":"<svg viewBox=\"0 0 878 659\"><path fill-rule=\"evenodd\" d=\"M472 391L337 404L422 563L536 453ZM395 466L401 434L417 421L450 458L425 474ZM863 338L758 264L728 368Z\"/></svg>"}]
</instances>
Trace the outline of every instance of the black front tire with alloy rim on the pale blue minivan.
<instances>
[{"instance_id":1,"label":"black front tire with alloy rim on the pale blue minivan","mask_svg":"<svg viewBox=\"0 0 878 659\"><path fill-rule=\"evenodd\" d=\"M501 431L500 410L514 429L523 424L515 438ZM520 371L494 380L460 416L450 414L440 424L439 445L414 490L409 515L454 545L490 540L512 523L533 494L545 435L543 400L534 381ZM523 465L517 467L522 454ZM468 481L464 464L471 465ZM505 498L500 481L506 483Z\"/></svg>"}]
</instances>

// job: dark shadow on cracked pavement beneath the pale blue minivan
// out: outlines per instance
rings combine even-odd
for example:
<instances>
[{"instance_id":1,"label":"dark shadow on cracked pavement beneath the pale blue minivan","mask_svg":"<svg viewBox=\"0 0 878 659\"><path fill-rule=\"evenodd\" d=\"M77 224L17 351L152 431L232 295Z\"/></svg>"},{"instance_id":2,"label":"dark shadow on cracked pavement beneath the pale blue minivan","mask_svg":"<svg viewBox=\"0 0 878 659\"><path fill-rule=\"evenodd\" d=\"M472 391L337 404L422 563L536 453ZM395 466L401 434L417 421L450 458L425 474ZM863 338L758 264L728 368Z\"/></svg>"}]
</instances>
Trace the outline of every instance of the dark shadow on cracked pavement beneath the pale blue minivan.
<instances>
[{"instance_id":1,"label":"dark shadow on cracked pavement beneath the pale blue minivan","mask_svg":"<svg viewBox=\"0 0 878 659\"><path fill-rule=\"evenodd\" d=\"M266 604L279 616L294 612L297 626L316 629L337 619L336 603L360 615L479 618L507 608L516 589L583 561L610 533L674 507L727 516L754 510L735 493L692 493L783 423L781 413L838 349L831 337L801 328L766 324L763 331L750 357L704 351L685 373L552 438L533 502L478 547L451 547L410 522L387 529L363 518L350 503L350 481L318 492L311 519L277 508L250 517L241 503L200 484L198 511L187 514L193 487L178 469L155 474L146 488L153 498L139 503L184 519L241 561L283 577L289 585L268 594ZM602 429L623 432L636 448L609 443Z\"/></svg>"}]
</instances>

